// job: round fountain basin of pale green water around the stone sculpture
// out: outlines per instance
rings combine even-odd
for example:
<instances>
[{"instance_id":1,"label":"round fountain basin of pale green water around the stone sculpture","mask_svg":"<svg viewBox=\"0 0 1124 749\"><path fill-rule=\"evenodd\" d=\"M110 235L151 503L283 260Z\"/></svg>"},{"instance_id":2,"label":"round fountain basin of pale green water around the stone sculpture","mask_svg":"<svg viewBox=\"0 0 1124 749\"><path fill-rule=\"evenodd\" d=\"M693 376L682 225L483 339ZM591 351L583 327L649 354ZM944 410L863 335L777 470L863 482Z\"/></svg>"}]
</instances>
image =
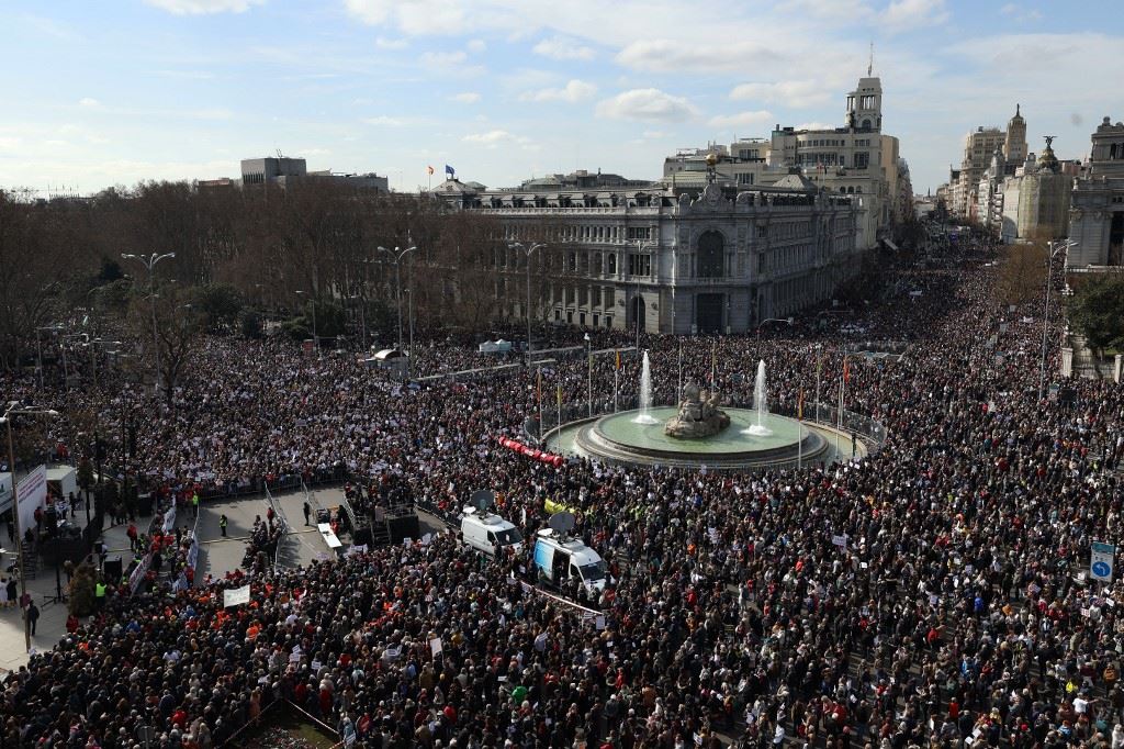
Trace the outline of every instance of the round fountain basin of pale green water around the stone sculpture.
<instances>
[{"instance_id":1,"label":"round fountain basin of pale green water around the stone sculpture","mask_svg":"<svg viewBox=\"0 0 1124 749\"><path fill-rule=\"evenodd\" d=\"M796 419L764 414L762 426L768 434L750 434L756 427L758 412L725 408L731 425L704 439L669 436L663 424L678 408L649 409L655 423L637 424L638 410L602 416L592 422L571 424L547 439L551 450L578 453L607 462L646 466L681 466L717 470L796 464L797 455L815 461L828 451L827 441L816 428Z\"/></svg>"}]
</instances>

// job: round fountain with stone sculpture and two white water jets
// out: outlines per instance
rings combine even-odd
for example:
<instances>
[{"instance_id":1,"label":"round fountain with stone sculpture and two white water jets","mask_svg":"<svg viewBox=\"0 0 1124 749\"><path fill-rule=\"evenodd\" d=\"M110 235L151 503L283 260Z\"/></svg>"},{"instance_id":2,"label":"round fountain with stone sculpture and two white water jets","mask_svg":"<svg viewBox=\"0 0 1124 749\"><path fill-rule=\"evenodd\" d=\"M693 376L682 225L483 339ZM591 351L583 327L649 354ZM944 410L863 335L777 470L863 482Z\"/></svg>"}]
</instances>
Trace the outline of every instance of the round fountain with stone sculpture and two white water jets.
<instances>
[{"instance_id":1,"label":"round fountain with stone sculpture and two white water jets","mask_svg":"<svg viewBox=\"0 0 1124 749\"><path fill-rule=\"evenodd\" d=\"M604 462L738 470L796 467L835 460L830 426L769 413L765 363L758 363L753 408L733 407L722 394L695 383L676 406L655 406L652 369L644 353L640 408L565 424L546 439L553 452ZM845 440L846 457L851 442Z\"/></svg>"}]
</instances>

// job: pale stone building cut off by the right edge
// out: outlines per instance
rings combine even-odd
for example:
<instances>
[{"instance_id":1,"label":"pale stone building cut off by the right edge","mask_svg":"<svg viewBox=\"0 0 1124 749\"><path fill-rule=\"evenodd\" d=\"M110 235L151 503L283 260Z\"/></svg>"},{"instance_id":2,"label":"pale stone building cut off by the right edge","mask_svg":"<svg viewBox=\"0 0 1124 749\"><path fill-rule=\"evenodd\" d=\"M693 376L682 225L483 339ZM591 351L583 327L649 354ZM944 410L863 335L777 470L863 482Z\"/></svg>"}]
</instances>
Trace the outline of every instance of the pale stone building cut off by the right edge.
<instances>
[{"instance_id":1,"label":"pale stone building cut off by the right edge","mask_svg":"<svg viewBox=\"0 0 1124 749\"><path fill-rule=\"evenodd\" d=\"M1105 117L1085 172L1073 182L1066 255L1070 269L1124 265L1124 123Z\"/></svg>"}]
</instances>

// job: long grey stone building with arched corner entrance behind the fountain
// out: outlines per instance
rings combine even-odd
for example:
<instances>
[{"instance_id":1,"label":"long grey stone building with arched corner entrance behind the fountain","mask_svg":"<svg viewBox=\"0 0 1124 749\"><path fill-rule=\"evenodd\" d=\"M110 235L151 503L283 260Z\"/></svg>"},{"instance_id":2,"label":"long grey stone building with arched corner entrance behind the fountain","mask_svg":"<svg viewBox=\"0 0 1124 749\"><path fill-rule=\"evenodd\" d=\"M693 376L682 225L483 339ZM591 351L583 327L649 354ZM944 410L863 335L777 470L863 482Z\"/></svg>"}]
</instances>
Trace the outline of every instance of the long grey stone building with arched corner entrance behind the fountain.
<instances>
[{"instance_id":1,"label":"long grey stone building with arched corner entrance behind the fountain","mask_svg":"<svg viewBox=\"0 0 1124 749\"><path fill-rule=\"evenodd\" d=\"M650 333L741 333L830 299L858 269L862 216L851 196L801 174L772 186L724 184L711 159L701 188L598 175L489 190L447 180L446 206L493 217L500 315ZM571 175L568 175L571 177ZM537 294L523 294L526 258L542 242Z\"/></svg>"}]
</instances>

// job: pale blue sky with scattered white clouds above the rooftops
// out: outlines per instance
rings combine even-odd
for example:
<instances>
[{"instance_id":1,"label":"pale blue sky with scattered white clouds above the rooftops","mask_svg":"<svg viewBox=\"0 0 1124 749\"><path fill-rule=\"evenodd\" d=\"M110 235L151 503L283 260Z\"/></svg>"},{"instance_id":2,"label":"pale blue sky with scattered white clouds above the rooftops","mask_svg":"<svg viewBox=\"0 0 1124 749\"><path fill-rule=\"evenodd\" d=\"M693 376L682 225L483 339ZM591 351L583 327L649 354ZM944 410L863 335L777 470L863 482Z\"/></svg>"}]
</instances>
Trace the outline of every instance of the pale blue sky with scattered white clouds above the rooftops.
<instances>
[{"instance_id":1,"label":"pale blue sky with scattered white clouds above the rooftops","mask_svg":"<svg viewBox=\"0 0 1124 749\"><path fill-rule=\"evenodd\" d=\"M1016 102L1031 151L1054 135L1062 159L1124 119L1108 0L0 0L0 188L238 177L278 152L399 190L446 164L489 187L655 179L679 148L841 126L871 44L918 193Z\"/></svg>"}]
</instances>

